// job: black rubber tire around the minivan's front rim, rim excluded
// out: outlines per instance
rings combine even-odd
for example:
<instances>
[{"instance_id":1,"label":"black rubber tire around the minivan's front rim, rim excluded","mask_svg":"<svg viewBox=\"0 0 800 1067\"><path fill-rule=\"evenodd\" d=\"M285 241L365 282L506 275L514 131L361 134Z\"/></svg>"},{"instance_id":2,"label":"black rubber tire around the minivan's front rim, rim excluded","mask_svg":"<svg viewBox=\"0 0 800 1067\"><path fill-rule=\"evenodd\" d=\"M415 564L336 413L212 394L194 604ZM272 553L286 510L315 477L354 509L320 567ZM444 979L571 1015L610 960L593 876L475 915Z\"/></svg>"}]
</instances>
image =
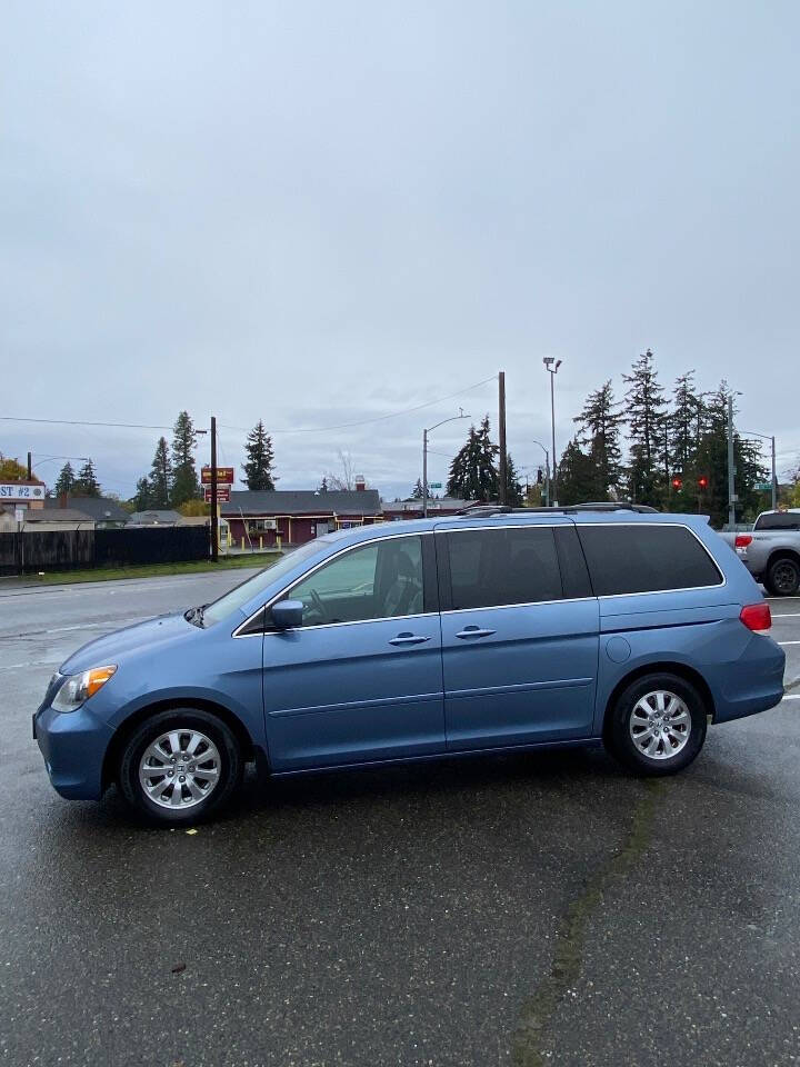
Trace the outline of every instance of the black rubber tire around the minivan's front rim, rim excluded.
<instances>
[{"instance_id":1,"label":"black rubber tire around the minivan's front rim, rim excluded","mask_svg":"<svg viewBox=\"0 0 800 1067\"><path fill-rule=\"evenodd\" d=\"M209 759L206 767L213 771L214 766L218 766L219 774L213 786L209 789L208 796L192 802L189 802L191 798L187 796L186 807L166 807L163 804L156 802L152 796L148 795L139 779L142 757L147 749L162 735L177 734L181 742L186 745L186 738L191 731L201 734L216 747L219 758ZM210 751L210 747L207 750ZM201 762L202 757L198 759L198 764ZM128 739L120 759L119 786L128 804L148 821L161 826L181 826L200 822L219 812L241 784L242 771L243 764L239 742L231 729L220 718L199 708L170 708L168 711L161 711L147 719ZM200 774L202 771L198 771L198 775ZM196 779L192 780L197 784ZM151 781L158 787L158 776L153 776ZM168 781L166 775L163 782L164 795L171 795L177 784L174 780ZM182 795L189 794L189 786L181 787L181 789Z\"/></svg>"}]
</instances>

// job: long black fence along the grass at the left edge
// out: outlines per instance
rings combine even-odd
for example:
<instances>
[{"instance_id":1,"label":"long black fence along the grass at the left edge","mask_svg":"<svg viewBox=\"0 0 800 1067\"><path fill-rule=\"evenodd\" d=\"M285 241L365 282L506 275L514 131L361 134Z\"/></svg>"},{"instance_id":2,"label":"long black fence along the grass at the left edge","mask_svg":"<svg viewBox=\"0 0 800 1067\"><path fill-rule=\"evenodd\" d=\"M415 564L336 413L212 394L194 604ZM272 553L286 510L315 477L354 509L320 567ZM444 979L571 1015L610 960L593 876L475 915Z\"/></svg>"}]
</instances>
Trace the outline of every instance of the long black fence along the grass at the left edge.
<instances>
[{"instance_id":1,"label":"long black fence along the grass at the left edge","mask_svg":"<svg viewBox=\"0 0 800 1067\"><path fill-rule=\"evenodd\" d=\"M0 575L207 559L207 526L0 534Z\"/></svg>"}]
</instances>

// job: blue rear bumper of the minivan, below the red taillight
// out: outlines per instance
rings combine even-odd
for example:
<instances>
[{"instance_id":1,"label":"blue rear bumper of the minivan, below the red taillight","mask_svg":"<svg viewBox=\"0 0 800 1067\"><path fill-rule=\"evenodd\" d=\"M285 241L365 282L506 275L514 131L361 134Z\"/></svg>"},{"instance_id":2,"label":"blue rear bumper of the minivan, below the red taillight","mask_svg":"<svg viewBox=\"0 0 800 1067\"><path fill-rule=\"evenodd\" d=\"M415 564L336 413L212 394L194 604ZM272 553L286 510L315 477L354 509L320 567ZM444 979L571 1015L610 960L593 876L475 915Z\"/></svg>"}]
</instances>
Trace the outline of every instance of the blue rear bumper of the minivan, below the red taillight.
<instances>
[{"instance_id":1,"label":"blue rear bumper of the minivan, below the red taillight","mask_svg":"<svg viewBox=\"0 0 800 1067\"><path fill-rule=\"evenodd\" d=\"M776 642L753 634L747 648L724 665L714 686L714 722L741 719L774 708L783 699L786 652Z\"/></svg>"}]
</instances>

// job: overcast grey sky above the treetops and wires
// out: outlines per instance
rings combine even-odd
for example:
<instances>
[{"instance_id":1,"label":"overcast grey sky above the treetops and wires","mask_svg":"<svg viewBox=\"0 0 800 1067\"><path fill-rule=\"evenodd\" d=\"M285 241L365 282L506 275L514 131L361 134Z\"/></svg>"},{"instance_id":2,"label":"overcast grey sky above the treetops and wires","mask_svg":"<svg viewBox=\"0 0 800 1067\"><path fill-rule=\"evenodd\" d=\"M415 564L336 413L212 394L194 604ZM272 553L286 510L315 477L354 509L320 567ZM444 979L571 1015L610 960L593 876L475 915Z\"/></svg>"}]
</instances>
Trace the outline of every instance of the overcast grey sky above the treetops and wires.
<instances>
[{"instance_id":1,"label":"overcast grey sky above the treetops and wires","mask_svg":"<svg viewBox=\"0 0 800 1067\"><path fill-rule=\"evenodd\" d=\"M800 6L4 0L0 415L259 418L386 495L507 372L534 467L644 348L800 452ZM0 422L130 496L158 430ZM444 480L464 425L431 439ZM169 433L168 433L169 437ZM439 453L444 455L439 455ZM199 450L207 459L207 443ZM52 485L60 462L41 462Z\"/></svg>"}]
</instances>

